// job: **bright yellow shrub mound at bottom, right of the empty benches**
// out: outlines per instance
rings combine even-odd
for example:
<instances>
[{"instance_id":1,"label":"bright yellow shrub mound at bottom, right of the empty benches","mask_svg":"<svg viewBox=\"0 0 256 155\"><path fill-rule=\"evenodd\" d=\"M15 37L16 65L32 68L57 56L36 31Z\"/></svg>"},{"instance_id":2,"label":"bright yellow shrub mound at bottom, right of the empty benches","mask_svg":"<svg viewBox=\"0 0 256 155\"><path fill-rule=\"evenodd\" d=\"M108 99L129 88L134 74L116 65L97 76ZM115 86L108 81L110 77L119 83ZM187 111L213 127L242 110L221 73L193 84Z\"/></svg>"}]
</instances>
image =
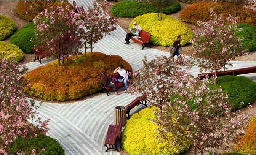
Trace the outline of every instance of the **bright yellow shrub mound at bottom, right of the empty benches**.
<instances>
[{"instance_id":1,"label":"bright yellow shrub mound at bottom, right of the empty benches","mask_svg":"<svg viewBox=\"0 0 256 155\"><path fill-rule=\"evenodd\" d=\"M122 147L129 154L177 154L185 152L188 144L172 146L171 135L169 140L157 143L157 125L151 122L156 119L154 108L145 108L139 113L133 114L127 121L122 134Z\"/></svg>"}]
</instances>

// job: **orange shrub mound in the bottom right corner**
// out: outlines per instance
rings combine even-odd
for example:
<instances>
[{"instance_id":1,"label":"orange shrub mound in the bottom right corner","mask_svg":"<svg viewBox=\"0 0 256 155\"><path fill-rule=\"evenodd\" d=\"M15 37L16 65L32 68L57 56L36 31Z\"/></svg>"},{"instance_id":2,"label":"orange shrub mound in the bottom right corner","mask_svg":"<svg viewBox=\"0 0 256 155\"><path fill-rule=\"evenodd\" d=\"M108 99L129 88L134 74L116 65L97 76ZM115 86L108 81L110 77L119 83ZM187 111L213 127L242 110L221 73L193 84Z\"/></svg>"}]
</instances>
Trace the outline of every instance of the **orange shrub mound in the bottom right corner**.
<instances>
[{"instance_id":1,"label":"orange shrub mound in the bottom right corner","mask_svg":"<svg viewBox=\"0 0 256 155\"><path fill-rule=\"evenodd\" d=\"M235 149L238 153L242 154L256 154L256 116L246 128L246 133L238 137L238 144Z\"/></svg>"}]
</instances>

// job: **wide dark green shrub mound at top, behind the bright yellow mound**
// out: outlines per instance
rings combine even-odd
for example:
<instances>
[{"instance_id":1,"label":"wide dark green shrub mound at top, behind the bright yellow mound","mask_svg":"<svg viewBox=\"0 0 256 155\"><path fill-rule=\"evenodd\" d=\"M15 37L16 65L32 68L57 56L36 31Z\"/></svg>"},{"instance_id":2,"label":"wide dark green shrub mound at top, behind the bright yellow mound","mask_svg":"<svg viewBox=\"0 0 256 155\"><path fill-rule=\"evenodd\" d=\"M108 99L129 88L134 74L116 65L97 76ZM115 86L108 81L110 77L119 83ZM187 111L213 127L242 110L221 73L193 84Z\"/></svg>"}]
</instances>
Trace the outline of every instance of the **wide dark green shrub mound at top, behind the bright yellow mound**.
<instances>
[{"instance_id":1,"label":"wide dark green shrub mound at top, behind the bright yellow mound","mask_svg":"<svg viewBox=\"0 0 256 155\"><path fill-rule=\"evenodd\" d=\"M178 1L169 1L168 5L163 6L162 13L169 14L179 11L181 5ZM158 8L152 7L143 1L119 1L111 8L113 16L116 17L136 17L145 13L158 13Z\"/></svg>"}]
</instances>

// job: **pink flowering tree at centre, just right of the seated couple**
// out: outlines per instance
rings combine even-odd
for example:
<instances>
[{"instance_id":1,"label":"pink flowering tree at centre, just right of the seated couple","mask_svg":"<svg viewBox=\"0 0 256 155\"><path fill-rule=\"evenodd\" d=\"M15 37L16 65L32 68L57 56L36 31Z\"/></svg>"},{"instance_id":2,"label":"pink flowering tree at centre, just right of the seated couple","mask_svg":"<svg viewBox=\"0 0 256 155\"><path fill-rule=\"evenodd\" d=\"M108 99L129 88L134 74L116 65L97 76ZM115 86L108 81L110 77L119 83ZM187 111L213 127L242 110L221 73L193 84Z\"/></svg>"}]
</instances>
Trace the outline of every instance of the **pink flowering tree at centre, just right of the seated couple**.
<instances>
[{"instance_id":1,"label":"pink flowering tree at centre, just right of the seated couple","mask_svg":"<svg viewBox=\"0 0 256 155\"><path fill-rule=\"evenodd\" d=\"M179 90L181 83L180 77L187 76L186 70L190 68L189 60L183 56L174 61L170 57L156 57L152 61L147 61L146 57L142 60L143 67L133 74L131 85L128 92L131 94L146 94L148 103L160 108L169 101L169 97ZM181 66L183 71L181 71ZM188 76L191 76L190 74ZM176 90L174 90L174 88Z\"/></svg>"}]
</instances>

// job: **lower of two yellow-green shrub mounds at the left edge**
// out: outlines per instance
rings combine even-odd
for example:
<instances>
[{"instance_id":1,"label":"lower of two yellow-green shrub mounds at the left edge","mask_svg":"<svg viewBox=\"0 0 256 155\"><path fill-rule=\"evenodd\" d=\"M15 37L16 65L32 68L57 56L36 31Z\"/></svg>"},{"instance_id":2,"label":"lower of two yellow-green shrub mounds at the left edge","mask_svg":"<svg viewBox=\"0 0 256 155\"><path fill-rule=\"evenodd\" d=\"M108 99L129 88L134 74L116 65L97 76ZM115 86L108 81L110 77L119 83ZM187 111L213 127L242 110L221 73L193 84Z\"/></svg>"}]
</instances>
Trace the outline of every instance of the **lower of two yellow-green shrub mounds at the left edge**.
<instances>
[{"instance_id":1,"label":"lower of two yellow-green shrub mounds at the left edge","mask_svg":"<svg viewBox=\"0 0 256 155\"><path fill-rule=\"evenodd\" d=\"M3 57L9 59L15 55L14 60L20 62L24 56L19 47L14 44L8 44L5 41L0 41L0 59Z\"/></svg>"}]
</instances>

